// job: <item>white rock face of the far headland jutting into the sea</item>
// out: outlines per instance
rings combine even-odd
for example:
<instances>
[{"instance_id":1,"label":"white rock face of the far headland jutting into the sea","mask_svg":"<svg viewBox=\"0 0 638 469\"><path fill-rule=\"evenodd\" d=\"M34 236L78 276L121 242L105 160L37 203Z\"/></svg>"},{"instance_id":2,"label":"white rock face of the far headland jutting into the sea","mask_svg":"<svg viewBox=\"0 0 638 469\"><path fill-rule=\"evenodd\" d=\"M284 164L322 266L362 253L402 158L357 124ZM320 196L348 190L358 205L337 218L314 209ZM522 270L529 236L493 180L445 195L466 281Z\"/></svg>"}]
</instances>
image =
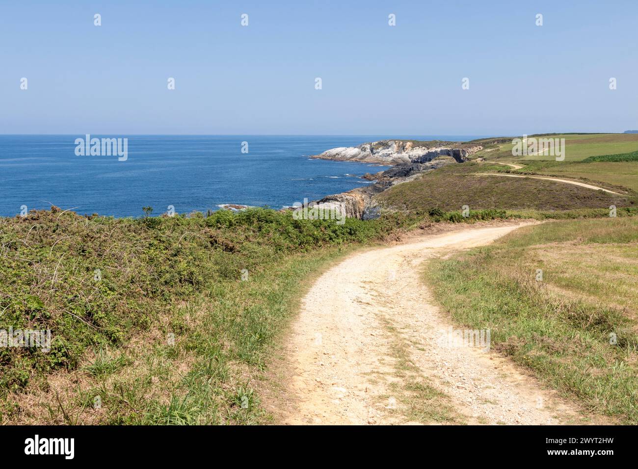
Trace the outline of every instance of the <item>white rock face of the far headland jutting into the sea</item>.
<instances>
[{"instance_id":1,"label":"white rock face of the far headland jutting into the sea","mask_svg":"<svg viewBox=\"0 0 638 469\"><path fill-rule=\"evenodd\" d=\"M314 158L322 160L360 161L362 163L381 163L384 165L401 165L406 163L425 163L436 156L449 155L455 160L465 161L468 154L479 151L482 147L459 148L450 146L413 146L413 142L403 140L382 140L369 142L357 147L339 147L324 151Z\"/></svg>"}]
</instances>

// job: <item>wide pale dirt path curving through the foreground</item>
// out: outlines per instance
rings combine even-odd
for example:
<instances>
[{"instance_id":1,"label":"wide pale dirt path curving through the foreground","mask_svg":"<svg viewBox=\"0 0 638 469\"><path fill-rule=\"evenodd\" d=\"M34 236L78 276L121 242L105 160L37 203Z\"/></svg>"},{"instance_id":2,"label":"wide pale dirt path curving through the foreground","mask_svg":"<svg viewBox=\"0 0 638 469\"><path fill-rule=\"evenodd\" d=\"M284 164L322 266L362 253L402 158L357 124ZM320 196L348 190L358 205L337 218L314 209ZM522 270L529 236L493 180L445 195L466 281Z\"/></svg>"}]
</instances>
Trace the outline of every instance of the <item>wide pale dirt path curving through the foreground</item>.
<instances>
[{"instance_id":1,"label":"wide pale dirt path curving through the foreground","mask_svg":"<svg viewBox=\"0 0 638 469\"><path fill-rule=\"evenodd\" d=\"M302 302L286 346L287 424L557 424L581 415L508 359L447 346L452 324L420 276L429 257L520 225L464 228L355 253Z\"/></svg>"}]
</instances>

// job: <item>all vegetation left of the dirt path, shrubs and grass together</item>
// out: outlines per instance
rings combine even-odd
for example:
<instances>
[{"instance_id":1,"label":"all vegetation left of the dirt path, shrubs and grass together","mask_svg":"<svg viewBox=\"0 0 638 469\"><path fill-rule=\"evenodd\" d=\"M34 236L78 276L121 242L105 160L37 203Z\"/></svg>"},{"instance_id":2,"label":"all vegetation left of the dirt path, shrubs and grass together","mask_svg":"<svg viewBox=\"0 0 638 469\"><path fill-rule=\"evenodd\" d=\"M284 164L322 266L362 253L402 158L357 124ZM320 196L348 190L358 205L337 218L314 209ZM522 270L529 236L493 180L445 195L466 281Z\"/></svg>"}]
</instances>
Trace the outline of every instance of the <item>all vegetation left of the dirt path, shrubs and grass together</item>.
<instances>
[{"instance_id":1,"label":"all vegetation left of the dirt path, shrubs and grass together","mask_svg":"<svg viewBox=\"0 0 638 469\"><path fill-rule=\"evenodd\" d=\"M302 279L410 220L3 218L0 329L50 329L52 341L48 353L0 348L0 421L260 421L253 385Z\"/></svg>"}]
</instances>

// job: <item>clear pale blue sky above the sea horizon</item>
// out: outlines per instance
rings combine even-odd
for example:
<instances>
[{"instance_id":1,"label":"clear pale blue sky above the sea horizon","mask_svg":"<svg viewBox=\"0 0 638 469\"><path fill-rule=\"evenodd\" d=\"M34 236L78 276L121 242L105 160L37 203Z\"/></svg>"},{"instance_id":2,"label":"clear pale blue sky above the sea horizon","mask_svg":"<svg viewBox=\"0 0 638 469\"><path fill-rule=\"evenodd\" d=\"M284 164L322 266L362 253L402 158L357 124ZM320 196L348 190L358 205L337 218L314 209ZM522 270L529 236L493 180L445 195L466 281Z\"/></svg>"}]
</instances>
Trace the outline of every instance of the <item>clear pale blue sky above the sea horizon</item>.
<instances>
[{"instance_id":1,"label":"clear pale blue sky above the sea horizon","mask_svg":"<svg viewBox=\"0 0 638 469\"><path fill-rule=\"evenodd\" d=\"M636 129L637 20L635 0L1 0L0 133Z\"/></svg>"}]
</instances>

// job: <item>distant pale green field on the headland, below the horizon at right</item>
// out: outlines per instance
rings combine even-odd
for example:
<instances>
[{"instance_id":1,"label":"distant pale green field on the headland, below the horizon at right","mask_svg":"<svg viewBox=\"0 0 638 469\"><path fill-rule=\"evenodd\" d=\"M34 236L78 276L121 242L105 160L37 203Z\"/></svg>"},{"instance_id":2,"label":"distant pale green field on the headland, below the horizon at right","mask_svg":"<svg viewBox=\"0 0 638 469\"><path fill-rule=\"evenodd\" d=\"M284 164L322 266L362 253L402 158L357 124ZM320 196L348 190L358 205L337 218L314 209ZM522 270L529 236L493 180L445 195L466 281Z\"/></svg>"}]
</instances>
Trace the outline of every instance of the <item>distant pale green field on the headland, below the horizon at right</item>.
<instances>
[{"instance_id":1,"label":"distant pale green field on the headland, below the horizon at right","mask_svg":"<svg viewBox=\"0 0 638 469\"><path fill-rule=\"evenodd\" d=\"M529 136L532 137L531 135ZM635 133L595 133L595 134L556 134L535 135L535 138L565 138L565 161L584 160L590 156L631 153L638 151L638 134ZM554 161L552 156L544 155L512 155L511 139L507 143L486 145L486 149L476 153L475 157L487 160L528 160Z\"/></svg>"}]
</instances>

